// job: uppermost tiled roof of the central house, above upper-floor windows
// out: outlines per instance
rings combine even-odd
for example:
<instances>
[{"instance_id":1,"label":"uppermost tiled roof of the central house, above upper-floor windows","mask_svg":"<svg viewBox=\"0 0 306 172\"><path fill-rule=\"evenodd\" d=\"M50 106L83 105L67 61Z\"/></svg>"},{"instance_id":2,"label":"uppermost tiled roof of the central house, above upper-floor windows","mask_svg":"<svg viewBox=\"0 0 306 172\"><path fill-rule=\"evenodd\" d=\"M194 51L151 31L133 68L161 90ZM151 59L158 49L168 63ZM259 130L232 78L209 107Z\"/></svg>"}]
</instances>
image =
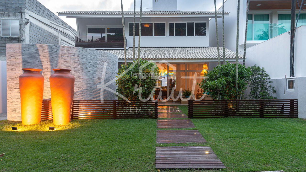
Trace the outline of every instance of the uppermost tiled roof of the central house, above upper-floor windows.
<instances>
[{"instance_id":1,"label":"uppermost tiled roof of the central house, above upper-floor windows","mask_svg":"<svg viewBox=\"0 0 306 172\"><path fill-rule=\"evenodd\" d=\"M59 14L121 14L121 11L62 11ZM218 14L222 12L218 11ZM229 12L224 12L229 13ZM124 11L123 14L134 14L133 11ZM136 11L140 14L140 11ZM215 14L214 11L142 11L142 14Z\"/></svg>"}]
</instances>

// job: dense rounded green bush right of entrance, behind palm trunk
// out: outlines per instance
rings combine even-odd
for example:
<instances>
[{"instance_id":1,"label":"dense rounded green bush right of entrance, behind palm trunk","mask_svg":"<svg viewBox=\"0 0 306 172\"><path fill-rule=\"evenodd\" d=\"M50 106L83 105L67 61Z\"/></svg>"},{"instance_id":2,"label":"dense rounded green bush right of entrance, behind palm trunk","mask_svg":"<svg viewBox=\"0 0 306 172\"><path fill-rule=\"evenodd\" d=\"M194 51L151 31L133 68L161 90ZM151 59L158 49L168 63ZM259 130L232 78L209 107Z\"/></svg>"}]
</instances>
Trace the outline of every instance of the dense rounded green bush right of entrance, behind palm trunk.
<instances>
[{"instance_id":1,"label":"dense rounded green bush right of entrance, behind palm trunk","mask_svg":"<svg viewBox=\"0 0 306 172\"><path fill-rule=\"evenodd\" d=\"M235 88L236 64L226 62L208 71L200 82L200 87L210 92L213 99L236 99L240 97L247 88L248 78L251 75L250 67L238 64L238 90Z\"/></svg>"}]
</instances>

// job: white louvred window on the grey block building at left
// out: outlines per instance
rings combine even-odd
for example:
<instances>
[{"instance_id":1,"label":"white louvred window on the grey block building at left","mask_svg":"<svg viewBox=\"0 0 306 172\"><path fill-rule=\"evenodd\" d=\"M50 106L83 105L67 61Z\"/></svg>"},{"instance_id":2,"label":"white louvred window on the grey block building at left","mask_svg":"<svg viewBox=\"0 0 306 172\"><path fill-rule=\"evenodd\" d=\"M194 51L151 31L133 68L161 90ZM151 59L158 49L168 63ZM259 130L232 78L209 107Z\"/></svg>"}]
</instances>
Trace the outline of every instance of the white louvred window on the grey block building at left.
<instances>
[{"instance_id":1,"label":"white louvred window on the grey block building at left","mask_svg":"<svg viewBox=\"0 0 306 172\"><path fill-rule=\"evenodd\" d=\"M19 37L19 19L1 19L1 36Z\"/></svg>"}]
</instances>

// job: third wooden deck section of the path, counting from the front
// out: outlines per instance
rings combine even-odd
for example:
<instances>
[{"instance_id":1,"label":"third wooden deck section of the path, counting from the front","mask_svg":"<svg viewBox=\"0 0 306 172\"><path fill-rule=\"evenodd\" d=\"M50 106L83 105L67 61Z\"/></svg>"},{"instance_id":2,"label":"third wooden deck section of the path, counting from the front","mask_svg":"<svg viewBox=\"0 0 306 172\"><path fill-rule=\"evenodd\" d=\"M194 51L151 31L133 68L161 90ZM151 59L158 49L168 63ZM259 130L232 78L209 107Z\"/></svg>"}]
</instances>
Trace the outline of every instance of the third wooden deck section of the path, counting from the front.
<instances>
[{"instance_id":1,"label":"third wooden deck section of the path, counting from the front","mask_svg":"<svg viewBox=\"0 0 306 172\"><path fill-rule=\"evenodd\" d=\"M194 128L190 119L158 119L157 128L164 129L180 129L180 128Z\"/></svg>"}]
</instances>

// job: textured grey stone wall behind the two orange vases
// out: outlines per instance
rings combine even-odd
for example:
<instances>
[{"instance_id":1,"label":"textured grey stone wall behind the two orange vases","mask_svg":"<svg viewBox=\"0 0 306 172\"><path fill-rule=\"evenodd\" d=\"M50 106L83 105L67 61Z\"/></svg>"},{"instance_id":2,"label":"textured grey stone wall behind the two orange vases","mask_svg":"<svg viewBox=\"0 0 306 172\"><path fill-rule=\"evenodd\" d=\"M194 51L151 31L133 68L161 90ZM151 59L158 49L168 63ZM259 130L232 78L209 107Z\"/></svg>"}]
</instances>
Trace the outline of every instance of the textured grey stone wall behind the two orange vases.
<instances>
[{"instance_id":1,"label":"textured grey stone wall behind the two orange vases","mask_svg":"<svg viewBox=\"0 0 306 172\"><path fill-rule=\"evenodd\" d=\"M7 44L7 118L21 120L19 80L21 68L40 68L45 77L43 99L50 99L49 77L54 68L72 69L75 77L75 100L99 100L103 68L106 63L104 83L113 80L118 71L118 57L114 54L80 47L47 44ZM116 90L112 82L107 86ZM114 93L103 92L104 100L117 99Z\"/></svg>"}]
</instances>

